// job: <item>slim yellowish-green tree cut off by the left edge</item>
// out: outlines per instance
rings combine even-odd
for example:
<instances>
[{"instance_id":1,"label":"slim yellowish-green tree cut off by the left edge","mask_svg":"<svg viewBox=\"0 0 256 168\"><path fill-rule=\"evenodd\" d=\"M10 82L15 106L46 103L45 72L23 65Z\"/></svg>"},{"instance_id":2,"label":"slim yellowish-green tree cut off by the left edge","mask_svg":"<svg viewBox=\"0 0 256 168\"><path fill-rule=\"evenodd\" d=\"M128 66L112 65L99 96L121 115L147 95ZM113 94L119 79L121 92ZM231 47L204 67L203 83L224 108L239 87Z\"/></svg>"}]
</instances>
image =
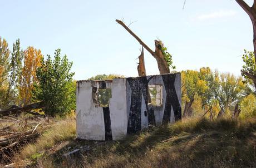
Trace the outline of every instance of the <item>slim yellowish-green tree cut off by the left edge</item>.
<instances>
[{"instance_id":1,"label":"slim yellowish-green tree cut off by the left edge","mask_svg":"<svg viewBox=\"0 0 256 168\"><path fill-rule=\"evenodd\" d=\"M6 39L0 37L0 108L4 107L9 72L9 48Z\"/></svg>"}]
</instances>

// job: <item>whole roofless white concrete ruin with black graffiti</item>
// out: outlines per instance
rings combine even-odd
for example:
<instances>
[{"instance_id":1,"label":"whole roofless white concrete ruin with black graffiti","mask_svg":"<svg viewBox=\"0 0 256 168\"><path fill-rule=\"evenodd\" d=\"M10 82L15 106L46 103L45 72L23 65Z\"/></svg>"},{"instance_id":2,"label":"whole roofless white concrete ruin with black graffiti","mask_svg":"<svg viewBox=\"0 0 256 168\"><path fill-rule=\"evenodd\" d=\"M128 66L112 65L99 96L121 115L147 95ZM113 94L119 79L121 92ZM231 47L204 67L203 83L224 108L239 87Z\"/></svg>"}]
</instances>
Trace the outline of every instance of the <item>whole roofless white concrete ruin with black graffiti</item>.
<instances>
[{"instance_id":1,"label":"whole roofless white concrete ruin with black graffiti","mask_svg":"<svg viewBox=\"0 0 256 168\"><path fill-rule=\"evenodd\" d=\"M77 81L77 138L120 140L181 120L180 73Z\"/></svg>"}]
</instances>

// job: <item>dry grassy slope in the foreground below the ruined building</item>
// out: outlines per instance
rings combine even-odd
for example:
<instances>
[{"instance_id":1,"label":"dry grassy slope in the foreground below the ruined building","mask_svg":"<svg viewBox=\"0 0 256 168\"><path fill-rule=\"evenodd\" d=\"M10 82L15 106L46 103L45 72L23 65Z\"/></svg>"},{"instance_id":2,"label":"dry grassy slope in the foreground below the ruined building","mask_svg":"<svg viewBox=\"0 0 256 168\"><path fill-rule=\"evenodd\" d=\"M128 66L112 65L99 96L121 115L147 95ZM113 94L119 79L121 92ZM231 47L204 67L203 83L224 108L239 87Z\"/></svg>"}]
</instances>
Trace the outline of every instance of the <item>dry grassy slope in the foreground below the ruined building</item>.
<instances>
[{"instance_id":1,"label":"dry grassy slope in the foreground below the ruined building","mask_svg":"<svg viewBox=\"0 0 256 168\"><path fill-rule=\"evenodd\" d=\"M65 130L67 125L58 128L53 132ZM75 131L60 139L69 139L60 150L36 159L34 167L256 167L256 119L193 119L144 130L124 141L71 140L73 134ZM46 134L41 139L52 136L56 137ZM51 145L57 144L57 139ZM50 147L42 144L46 142L38 140L33 150L25 147L32 151L25 156L32 158ZM63 156L74 149L81 151Z\"/></svg>"}]
</instances>

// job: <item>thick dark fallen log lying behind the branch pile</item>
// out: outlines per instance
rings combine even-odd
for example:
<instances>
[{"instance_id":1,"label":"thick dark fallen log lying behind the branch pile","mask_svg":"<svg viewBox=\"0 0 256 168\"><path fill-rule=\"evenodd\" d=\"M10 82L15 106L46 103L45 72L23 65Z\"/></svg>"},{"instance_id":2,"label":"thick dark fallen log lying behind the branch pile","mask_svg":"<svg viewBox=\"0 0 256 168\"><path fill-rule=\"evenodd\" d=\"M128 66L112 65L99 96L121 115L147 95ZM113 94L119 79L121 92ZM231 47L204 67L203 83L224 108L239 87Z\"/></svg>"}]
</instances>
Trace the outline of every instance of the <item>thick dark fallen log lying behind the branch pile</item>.
<instances>
[{"instance_id":1,"label":"thick dark fallen log lying behind the branch pile","mask_svg":"<svg viewBox=\"0 0 256 168\"><path fill-rule=\"evenodd\" d=\"M11 108L0 110L0 116L17 115L17 113L21 113L24 111L31 111L33 109L42 108L42 107L43 107L42 102L25 105L23 107L12 106Z\"/></svg>"}]
</instances>

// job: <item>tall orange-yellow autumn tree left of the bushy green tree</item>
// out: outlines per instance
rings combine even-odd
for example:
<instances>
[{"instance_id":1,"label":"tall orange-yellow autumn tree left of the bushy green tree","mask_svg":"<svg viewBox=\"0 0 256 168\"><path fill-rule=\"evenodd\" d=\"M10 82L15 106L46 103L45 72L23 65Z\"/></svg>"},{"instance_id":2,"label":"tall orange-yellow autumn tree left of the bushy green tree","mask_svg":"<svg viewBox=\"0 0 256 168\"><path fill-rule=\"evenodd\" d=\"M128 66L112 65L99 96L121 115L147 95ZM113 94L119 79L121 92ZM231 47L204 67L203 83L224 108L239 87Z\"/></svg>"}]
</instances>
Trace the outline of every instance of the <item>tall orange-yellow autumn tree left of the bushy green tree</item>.
<instances>
[{"instance_id":1,"label":"tall orange-yellow autumn tree left of the bushy green tree","mask_svg":"<svg viewBox=\"0 0 256 168\"><path fill-rule=\"evenodd\" d=\"M21 105L31 103L32 90L34 83L37 82L36 70L41 66L41 58L43 57L41 50L34 47L28 47L24 51L24 66L19 84L19 100Z\"/></svg>"}]
</instances>

